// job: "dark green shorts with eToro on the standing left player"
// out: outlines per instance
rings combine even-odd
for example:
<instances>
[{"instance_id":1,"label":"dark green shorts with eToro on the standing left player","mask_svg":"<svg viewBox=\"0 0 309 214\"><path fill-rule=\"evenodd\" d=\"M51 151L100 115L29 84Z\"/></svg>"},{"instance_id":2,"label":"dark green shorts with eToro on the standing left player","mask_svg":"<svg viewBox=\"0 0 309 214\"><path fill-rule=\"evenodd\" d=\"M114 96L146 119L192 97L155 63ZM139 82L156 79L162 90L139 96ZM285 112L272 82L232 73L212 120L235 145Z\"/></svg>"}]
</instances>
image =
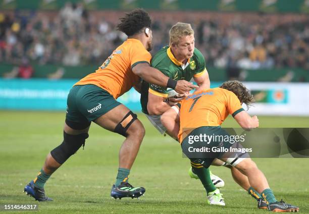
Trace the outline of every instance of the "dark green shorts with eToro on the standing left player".
<instances>
[{"instance_id":1,"label":"dark green shorts with eToro on the standing left player","mask_svg":"<svg viewBox=\"0 0 309 214\"><path fill-rule=\"evenodd\" d=\"M75 85L68 95L66 123L72 129L85 129L91 121L120 104L108 91L96 85Z\"/></svg>"}]
</instances>

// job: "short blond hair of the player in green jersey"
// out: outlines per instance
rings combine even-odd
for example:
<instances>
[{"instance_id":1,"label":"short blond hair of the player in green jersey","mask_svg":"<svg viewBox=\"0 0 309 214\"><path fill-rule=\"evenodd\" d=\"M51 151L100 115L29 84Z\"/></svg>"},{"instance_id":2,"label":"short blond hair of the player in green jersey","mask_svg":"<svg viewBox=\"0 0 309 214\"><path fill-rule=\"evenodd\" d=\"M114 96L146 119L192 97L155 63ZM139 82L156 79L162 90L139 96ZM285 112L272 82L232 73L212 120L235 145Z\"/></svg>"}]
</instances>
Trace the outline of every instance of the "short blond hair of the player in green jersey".
<instances>
[{"instance_id":1,"label":"short blond hair of the player in green jersey","mask_svg":"<svg viewBox=\"0 0 309 214\"><path fill-rule=\"evenodd\" d=\"M172 43L178 44L183 36L194 34L190 24L177 22L170 30L170 45Z\"/></svg>"}]
</instances>

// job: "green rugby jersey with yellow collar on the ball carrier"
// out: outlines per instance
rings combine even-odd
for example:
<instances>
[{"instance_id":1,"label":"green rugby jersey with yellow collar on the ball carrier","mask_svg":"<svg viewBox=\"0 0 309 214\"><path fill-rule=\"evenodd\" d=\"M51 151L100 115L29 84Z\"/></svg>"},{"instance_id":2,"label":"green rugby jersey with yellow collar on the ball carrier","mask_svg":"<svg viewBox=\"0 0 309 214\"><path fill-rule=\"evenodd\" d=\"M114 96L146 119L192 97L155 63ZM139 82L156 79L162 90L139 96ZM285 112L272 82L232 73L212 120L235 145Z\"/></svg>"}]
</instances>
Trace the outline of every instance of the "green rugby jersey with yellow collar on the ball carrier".
<instances>
[{"instance_id":1,"label":"green rugby jersey with yellow collar on the ball carrier","mask_svg":"<svg viewBox=\"0 0 309 214\"><path fill-rule=\"evenodd\" d=\"M205 68L205 59L202 53L196 48L194 48L193 56L184 65L173 56L171 47L165 46L151 59L151 67L160 70L163 74L174 80L190 81L192 77L198 77L204 72L207 72ZM167 89L165 87L149 84L143 81L140 103L142 106L142 112L147 115L148 93L162 97L168 96Z\"/></svg>"}]
</instances>

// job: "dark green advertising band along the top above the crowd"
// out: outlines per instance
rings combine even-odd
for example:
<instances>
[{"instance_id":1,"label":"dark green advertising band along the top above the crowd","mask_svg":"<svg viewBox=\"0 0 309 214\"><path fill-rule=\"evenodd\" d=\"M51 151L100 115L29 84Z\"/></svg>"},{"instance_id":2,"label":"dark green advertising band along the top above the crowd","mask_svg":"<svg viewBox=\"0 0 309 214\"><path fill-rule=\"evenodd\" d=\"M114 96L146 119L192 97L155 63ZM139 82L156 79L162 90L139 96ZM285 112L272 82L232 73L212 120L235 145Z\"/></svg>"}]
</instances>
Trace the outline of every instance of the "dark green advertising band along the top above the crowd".
<instances>
[{"instance_id":1,"label":"dark green advertising band along the top above the crowd","mask_svg":"<svg viewBox=\"0 0 309 214\"><path fill-rule=\"evenodd\" d=\"M222 12L309 13L308 0L0 0L1 10L59 10L66 2L87 10L203 10Z\"/></svg>"}]
</instances>

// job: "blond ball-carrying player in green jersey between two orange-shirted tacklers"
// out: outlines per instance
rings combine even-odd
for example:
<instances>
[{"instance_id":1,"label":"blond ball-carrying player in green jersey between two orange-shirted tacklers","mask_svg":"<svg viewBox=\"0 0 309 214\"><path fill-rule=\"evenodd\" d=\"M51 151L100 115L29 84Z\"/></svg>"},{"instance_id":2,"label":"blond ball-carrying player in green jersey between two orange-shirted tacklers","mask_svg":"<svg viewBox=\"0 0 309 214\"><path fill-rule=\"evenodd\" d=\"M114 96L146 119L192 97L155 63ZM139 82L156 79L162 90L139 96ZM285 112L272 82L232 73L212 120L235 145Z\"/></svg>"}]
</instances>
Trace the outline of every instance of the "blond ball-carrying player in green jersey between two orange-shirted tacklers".
<instances>
[{"instance_id":1,"label":"blond ball-carrying player in green jersey between two orange-shirted tacklers","mask_svg":"<svg viewBox=\"0 0 309 214\"><path fill-rule=\"evenodd\" d=\"M194 31L190 24L175 24L170 30L170 45L159 50L151 60L151 66L160 70L166 76L174 80L187 80L192 78L199 86L197 90L210 88L210 80L207 69L205 68L205 60L202 53L194 47ZM177 139L178 132L168 132L166 127L161 123L161 115L170 108L175 110L174 115L170 117L177 118L178 108L177 102L182 98L168 97L169 89L155 84L148 84L143 81L141 86L141 106L142 112L149 119L151 124L155 126L161 134L167 133ZM180 96L183 96L180 95ZM173 111L170 111L173 112ZM179 127L169 127L168 130L179 129ZM176 133L176 134L174 134ZM248 193L259 200L261 196L253 188L250 187L246 176L242 175L237 169L216 159L213 163L216 166L226 166L231 169L234 180ZM201 165L192 165L189 170L191 178L200 179L204 188L207 190L211 204L225 205L219 190L213 191L215 187L223 187L224 182L218 176L210 176L209 169L203 168Z\"/></svg>"}]
</instances>

